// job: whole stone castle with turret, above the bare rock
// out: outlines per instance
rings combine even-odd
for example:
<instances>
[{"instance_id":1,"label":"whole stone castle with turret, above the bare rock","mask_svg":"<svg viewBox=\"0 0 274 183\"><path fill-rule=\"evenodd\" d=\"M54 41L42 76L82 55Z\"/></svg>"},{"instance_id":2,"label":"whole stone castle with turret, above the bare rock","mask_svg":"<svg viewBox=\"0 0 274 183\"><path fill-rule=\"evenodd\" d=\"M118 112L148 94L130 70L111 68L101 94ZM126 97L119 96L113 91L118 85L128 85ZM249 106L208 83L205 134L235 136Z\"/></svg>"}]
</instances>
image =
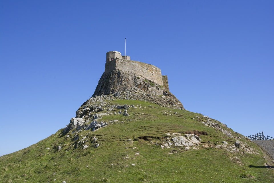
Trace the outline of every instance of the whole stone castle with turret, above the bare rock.
<instances>
[{"instance_id":1,"label":"whole stone castle with turret, above the bare rock","mask_svg":"<svg viewBox=\"0 0 274 183\"><path fill-rule=\"evenodd\" d=\"M106 53L106 65L104 73L121 70L135 74L138 78L144 78L163 86L169 91L168 76L162 75L161 69L147 63L130 60L130 56L122 56L119 51Z\"/></svg>"}]
</instances>

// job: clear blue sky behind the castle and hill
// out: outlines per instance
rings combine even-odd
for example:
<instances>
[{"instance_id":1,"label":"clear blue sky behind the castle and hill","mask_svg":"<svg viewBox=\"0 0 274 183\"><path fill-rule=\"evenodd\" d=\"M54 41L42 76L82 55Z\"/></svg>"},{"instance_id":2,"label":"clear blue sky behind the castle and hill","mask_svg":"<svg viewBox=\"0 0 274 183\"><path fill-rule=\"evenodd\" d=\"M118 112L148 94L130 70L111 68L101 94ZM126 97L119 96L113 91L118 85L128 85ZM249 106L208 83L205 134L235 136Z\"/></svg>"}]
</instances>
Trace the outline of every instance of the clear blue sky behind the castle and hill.
<instances>
[{"instance_id":1,"label":"clear blue sky behind the castle and hill","mask_svg":"<svg viewBox=\"0 0 274 183\"><path fill-rule=\"evenodd\" d=\"M0 1L0 155L64 128L125 37L187 110L274 136L273 20L272 0Z\"/></svg>"}]
</instances>

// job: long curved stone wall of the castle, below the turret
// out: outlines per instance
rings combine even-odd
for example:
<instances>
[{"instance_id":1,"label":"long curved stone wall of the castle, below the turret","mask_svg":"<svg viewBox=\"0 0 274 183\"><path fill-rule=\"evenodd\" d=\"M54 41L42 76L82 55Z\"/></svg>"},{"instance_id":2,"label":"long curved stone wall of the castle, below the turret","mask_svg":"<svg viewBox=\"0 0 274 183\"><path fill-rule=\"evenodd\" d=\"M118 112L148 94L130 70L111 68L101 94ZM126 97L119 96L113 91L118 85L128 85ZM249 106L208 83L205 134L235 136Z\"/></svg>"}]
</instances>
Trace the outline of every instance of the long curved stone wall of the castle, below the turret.
<instances>
[{"instance_id":1,"label":"long curved stone wall of the castle, below the turret","mask_svg":"<svg viewBox=\"0 0 274 183\"><path fill-rule=\"evenodd\" d=\"M159 85L163 85L161 69L151 64L124 59L115 59L106 62L105 73L114 69L134 73L138 77L143 77Z\"/></svg>"}]
</instances>

